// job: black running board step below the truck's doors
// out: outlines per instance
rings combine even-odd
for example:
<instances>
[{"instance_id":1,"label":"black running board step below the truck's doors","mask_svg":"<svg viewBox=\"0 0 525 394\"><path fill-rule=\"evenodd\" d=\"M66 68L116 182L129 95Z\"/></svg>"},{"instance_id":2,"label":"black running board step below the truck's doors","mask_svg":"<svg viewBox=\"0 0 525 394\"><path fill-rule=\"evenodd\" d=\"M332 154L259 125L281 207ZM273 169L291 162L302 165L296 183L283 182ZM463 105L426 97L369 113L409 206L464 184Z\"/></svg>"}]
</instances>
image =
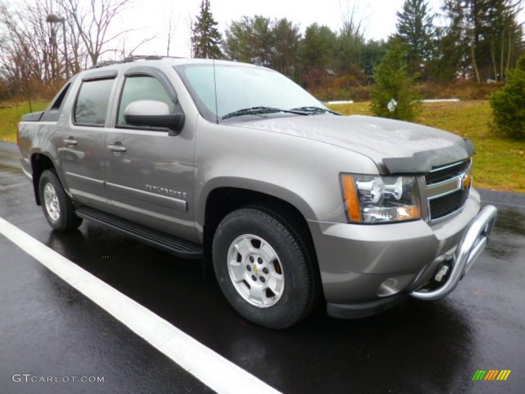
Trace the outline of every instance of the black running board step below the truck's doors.
<instances>
[{"instance_id":1,"label":"black running board step below the truck's doors","mask_svg":"<svg viewBox=\"0 0 525 394\"><path fill-rule=\"evenodd\" d=\"M75 210L79 217L111 227L139 241L158 247L178 257L203 258L203 247L173 235L144 227L96 209L81 206Z\"/></svg>"}]
</instances>

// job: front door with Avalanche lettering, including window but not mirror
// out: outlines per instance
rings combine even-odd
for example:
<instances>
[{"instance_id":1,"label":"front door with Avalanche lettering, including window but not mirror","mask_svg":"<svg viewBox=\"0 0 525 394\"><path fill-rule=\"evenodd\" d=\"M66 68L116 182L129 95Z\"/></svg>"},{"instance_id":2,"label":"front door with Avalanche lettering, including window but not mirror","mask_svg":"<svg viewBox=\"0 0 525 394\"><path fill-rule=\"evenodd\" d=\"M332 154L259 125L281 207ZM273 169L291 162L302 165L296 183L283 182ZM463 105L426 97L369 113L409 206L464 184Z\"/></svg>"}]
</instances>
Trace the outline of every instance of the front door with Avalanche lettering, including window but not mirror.
<instances>
[{"instance_id":1,"label":"front door with Avalanche lettering, including window but not mirror","mask_svg":"<svg viewBox=\"0 0 525 394\"><path fill-rule=\"evenodd\" d=\"M134 127L124 120L134 101L165 102L182 110L169 79L153 67L135 66L124 74L114 129L108 130L107 190L113 212L133 222L195 239L191 215L194 130L177 136L168 130Z\"/></svg>"}]
</instances>

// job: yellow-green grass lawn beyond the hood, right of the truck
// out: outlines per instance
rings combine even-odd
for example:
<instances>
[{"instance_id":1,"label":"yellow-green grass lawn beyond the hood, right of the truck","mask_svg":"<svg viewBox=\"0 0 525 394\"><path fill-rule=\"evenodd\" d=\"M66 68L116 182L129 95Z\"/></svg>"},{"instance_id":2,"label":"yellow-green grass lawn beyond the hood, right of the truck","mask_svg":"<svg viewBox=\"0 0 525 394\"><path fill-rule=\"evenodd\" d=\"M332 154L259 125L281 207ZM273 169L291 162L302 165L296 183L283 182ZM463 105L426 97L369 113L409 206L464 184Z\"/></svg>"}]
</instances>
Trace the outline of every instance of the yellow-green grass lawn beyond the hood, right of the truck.
<instances>
[{"instance_id":1,"label":"yellow-green grass lawn beyond the hood, right of the truck","mask_svg":"<svg viewBox=\"0 0 525 394\"><path fill-rule=\"evenodd\" d=\"M344 115L372 113L369 102L330 107ZM525 193L525 142L494 136L489 129L491 112L488 101L424 103L416 122L453 132L474 143L476 188Z\"/></svg>"}]
</instances>

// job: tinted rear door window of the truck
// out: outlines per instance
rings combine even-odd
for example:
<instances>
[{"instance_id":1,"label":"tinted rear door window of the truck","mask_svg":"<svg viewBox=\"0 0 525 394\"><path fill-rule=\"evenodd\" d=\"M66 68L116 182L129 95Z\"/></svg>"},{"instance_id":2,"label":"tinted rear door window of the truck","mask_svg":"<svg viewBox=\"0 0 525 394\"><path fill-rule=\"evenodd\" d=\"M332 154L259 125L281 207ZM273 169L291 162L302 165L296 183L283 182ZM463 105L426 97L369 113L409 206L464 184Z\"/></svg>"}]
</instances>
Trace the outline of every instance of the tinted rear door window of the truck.
<instances>
[{"instance_id":1,"label":"tinted rear door window of the truck","mask_svg":"<svg viewBox=\"0 0 525 394\"><path fill-rule=\"evenodd\" d=\"M75 123L104 126L114 79L83 81L75 103Z\"/></svg>"}]
</instances>

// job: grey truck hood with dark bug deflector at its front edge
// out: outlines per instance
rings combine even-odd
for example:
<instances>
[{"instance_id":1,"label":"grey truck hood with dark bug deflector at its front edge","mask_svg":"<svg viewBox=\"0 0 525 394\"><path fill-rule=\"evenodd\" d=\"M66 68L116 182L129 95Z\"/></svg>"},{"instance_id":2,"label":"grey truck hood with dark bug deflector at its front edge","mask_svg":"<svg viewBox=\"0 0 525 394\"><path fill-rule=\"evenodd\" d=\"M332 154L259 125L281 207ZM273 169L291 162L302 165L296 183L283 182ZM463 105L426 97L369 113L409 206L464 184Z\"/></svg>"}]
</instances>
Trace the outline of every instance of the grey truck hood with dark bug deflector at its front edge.
<instances>
[{"instance_id":1,"label":"grey truck hood with dark bug deflector at its front edge","mask_svg":"<svg viewBox=\"0 0 525 394\"><path fill-rule=\"evenodd\" d=\"M443 130L370 116L293 116L230 123L288 134L361 153L391 174L423 174L465 160L472 143Z\"/></svg>"}]
</instances>

